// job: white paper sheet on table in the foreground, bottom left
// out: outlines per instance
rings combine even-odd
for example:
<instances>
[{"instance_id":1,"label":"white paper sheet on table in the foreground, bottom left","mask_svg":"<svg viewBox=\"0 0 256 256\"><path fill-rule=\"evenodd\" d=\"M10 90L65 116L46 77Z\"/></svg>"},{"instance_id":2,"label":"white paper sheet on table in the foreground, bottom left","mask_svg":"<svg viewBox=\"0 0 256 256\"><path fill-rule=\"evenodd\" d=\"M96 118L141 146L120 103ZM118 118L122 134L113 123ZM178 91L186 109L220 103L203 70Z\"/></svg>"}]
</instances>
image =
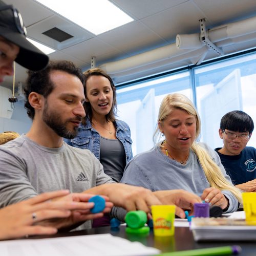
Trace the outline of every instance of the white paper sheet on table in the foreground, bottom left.
<instances>
[{"instance_id":1,"label":"white paper sheet on table in the foreground, bottom left","mask_svg":"<svg viewBox=\"0 0 256 256\"><path fill-rule=\"evenodd\" d=\"M160 252L111 234L0 242L0 254L5 256L133 256Z\"/></svg>"}]
</instances>

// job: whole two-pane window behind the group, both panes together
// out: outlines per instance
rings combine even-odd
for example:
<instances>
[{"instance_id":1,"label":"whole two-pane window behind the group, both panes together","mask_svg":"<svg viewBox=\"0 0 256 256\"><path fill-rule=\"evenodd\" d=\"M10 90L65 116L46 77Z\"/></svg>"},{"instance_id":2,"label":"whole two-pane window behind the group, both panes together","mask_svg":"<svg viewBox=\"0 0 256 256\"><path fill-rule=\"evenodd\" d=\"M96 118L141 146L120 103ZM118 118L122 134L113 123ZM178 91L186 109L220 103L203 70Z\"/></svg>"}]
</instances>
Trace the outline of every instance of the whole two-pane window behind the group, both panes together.
<instances>
[{"instance_id":1,"label":"whole two-pane window behind the group, both panes together","mask_svg":"<svg viewBox=\"0 0 256 256\"><path fill-rule=\"evenodd\" d=\"M191 76L193 74L193 76ZM194 80L191 80L194 77ZM182 93L201 117L200 141L211 148L223 145L219 138L221 117L242 110L256 120L256 54L215 61L157 78L117 87L118 119L131 128L134 156L154 146L160 103L166 94ZM195 95L194 95L195 94ZM255 146L253 134L248 146Z\"/></svg>"}]
</instances>

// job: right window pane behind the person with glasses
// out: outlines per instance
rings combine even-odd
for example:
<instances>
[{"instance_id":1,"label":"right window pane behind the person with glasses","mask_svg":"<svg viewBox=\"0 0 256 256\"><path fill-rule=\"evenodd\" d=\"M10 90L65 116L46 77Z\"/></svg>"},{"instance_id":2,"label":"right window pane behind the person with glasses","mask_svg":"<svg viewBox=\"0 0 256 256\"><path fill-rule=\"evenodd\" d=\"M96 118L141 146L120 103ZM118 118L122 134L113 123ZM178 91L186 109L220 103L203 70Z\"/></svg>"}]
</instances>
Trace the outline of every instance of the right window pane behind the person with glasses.
<instances>
[{"instance_id":1,"label":"right window pane behind the person with glasses","mask_svg":"<svg viewBox=\"0 0 256 256\"><path fill-rule=\"evenodd\" d=\"M232 110L242 110L256 120L256 54L221 61L195 69L197 109L201 117L201 141L210 147L223 145L220 120ZM255 146L252 135L248 146Z\"/></svg>"}]
</instances>

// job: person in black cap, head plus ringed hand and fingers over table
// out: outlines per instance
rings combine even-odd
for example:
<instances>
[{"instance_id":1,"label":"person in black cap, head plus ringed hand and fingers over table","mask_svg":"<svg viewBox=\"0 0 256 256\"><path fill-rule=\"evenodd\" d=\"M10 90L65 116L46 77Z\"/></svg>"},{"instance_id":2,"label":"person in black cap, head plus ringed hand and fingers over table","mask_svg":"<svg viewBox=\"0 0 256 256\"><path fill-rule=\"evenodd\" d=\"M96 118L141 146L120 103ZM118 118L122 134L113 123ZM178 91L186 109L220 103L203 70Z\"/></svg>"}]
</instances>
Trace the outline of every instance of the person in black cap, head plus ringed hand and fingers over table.
<instances>
[{"instance_id":1,"label":"person in black cap, head plus ringed hand and fingers over table","mask_svg":"<svg viewBox=\"0 0 256 256\"><path fill-rule=\"evenodd\" d=\"M38 71L48 65L49 58L26 39L26 28L20 13L0 0L0 83L5 76L13 74L13 61L27 69ZM38 222L69 218L74 209L89 212L81 221L102 217L102 212L90 214L89 209L94 207L94 203L84 203L92 196L59 190L4 207L0 209L0 240L56 233L55 227L41 226ZM63 201L49 201L59 197ZM108 200L107 197L105 199ZM106 202L105 210L109 211L111 206L110 202Z\"/></svg>"}]
</instances>

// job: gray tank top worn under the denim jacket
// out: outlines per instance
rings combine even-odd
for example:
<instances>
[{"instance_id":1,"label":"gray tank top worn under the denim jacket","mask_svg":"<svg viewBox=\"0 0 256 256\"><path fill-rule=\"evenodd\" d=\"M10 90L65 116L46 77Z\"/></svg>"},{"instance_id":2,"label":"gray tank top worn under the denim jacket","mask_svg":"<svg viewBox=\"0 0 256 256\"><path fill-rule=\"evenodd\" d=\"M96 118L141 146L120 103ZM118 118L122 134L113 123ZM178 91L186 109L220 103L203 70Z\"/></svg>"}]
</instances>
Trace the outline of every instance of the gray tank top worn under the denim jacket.
<instances>
[{"instance_id":1,"label":"gray tank top worn under the denim jacket","mask_svg":"<svg viewBox=\"0 0 256 256\"><path fill-rule=\"evenodd\" d=\"M114 181L120 182L125 167L125 152L118 139L107 139L100 136L100 158L104 173Z\"/></svg>"}]
</instances>

